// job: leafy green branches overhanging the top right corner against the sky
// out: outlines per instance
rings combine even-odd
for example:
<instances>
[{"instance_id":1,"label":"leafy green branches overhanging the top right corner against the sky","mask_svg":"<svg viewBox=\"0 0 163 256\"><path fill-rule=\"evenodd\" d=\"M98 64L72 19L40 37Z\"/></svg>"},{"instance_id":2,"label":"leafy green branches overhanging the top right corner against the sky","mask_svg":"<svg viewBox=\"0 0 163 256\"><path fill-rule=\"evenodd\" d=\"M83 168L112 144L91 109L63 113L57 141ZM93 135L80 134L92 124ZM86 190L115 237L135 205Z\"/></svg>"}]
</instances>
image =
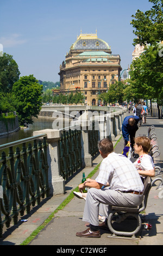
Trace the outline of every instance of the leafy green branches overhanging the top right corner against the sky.
<instances>
[{"instance_id":1,"label":"leafy green branches overhanging the top right corner against the sky","mask_svg":"<svg viewBox=\"0 0 163 256\"><path fill-rule=\"evenodd\" d=\"M153 3L151 10L143 13L137 10L131 25L135 28L133 33L137 36L134 45L156 45L163 40L163 0L149 0Z\"/></svg>"}]
</instances>

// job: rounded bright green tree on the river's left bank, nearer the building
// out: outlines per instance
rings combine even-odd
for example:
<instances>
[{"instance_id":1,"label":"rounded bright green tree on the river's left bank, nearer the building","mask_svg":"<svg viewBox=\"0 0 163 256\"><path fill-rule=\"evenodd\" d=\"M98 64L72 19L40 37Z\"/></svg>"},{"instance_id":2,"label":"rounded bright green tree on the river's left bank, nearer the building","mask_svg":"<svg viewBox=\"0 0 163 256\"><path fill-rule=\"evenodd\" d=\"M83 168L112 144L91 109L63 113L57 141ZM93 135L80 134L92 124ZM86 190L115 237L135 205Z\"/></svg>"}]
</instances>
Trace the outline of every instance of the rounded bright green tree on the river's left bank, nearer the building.
<instances>
[{"instance_id":1,"label":"rounded bright green tree on the river's left bank, nearer the building","mask_svg":"<svg viewBox=\"0 0 163 256\"><path fill-rule=\"evenodd\" d=\"M16 96L19 123L21 125L33 124L33 117L37 118L42 106L42 85L33 75L20 77L12 92Z\"/></svg>"}]
</instances>

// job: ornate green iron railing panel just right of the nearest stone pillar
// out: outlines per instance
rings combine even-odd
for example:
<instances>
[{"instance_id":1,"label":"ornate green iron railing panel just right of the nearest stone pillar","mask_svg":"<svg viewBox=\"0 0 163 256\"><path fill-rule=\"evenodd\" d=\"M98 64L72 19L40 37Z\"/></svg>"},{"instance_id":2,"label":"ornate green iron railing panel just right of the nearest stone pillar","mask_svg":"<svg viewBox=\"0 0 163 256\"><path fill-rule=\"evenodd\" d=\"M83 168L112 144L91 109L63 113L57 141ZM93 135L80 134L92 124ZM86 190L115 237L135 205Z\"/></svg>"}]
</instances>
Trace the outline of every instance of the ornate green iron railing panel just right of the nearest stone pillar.
<instances>
[{"instance_id":1,"label":"ornate green iron railing panel just right of the nearest stone pillar","mask_svg":"<svg viewBox=\"0 0 163 256\"><path fill-rule=\"evenodd\" d=\"M63 130L59 139L60 174L67 180L82 167L81 130Z\"/></svg>"}]
</instances>

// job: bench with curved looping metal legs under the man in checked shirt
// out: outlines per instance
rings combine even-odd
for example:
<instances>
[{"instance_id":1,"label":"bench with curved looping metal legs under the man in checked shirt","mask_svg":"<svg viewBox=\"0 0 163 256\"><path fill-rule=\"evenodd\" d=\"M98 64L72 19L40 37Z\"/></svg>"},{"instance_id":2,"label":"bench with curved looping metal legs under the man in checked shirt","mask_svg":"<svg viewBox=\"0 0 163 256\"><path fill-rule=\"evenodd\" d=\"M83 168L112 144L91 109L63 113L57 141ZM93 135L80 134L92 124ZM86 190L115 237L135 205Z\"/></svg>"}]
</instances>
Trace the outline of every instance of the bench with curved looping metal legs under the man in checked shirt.
<instances>
[{"instance_id":1,"label":"bench with curved looping metal legs under the man in checked shirt","mask_svg":"<svg viewBox=\"0 0 163 256\"><path fill-rule=\"evenodd\" d=\"M122 206L111 206L111 211L108 216L108 227L111 231L112 235L109 235L108 237L117 237L118 236L129 236L132 238L135 238L135 234L137 234L141 229L141 218L140 218L140 212L146 209L147 206L147 199L149 191L151 190L151 178L146 177L144 182L144 190L143 190L143 202L140 206L137 207L122 207ZM116 215L115 215L116 214ZM127 217L134 217L137 220L137 226L134 231L118 231L115 230L113 227L112 219L113 217L116 217L116 222L120 223L124 220L126 220Z\"/></svg>"}]
</instances>

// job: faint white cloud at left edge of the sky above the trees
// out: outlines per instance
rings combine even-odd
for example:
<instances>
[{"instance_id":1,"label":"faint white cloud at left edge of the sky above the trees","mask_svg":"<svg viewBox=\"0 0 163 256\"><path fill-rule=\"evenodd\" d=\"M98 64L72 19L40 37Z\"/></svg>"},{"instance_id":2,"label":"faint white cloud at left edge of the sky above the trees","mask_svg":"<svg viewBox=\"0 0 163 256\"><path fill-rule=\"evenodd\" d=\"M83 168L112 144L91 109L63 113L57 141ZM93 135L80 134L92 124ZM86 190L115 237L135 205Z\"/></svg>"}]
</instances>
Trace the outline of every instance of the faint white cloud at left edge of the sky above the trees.
<instances>
[{"instance_id":1,"label":"faint white cloud at left edge of the sky above the trees","mask_svg":"<svg viewBox=\"0 0 163 256\"><path fill-rule=\"evenodd\" d=\"M19 35L19 34L11 34L8 37L1 36L0 43L5 48L22 45L26 42L26 40L23 40L20 37L21 37L21 35Z\"/></svg>"}]
</instances>

